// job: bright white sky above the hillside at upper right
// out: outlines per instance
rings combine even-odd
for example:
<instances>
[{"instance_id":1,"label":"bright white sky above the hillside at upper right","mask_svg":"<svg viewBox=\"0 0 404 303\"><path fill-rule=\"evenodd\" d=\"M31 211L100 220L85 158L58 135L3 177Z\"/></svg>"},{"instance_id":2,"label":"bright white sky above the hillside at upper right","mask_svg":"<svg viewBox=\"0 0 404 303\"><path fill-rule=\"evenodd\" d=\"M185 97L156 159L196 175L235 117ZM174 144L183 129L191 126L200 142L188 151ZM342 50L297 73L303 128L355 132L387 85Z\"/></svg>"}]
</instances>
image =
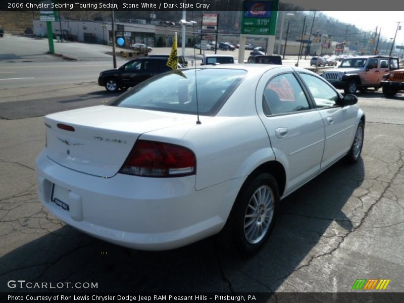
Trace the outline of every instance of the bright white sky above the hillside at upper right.
<instances>
[{"instance_id":1,"label":"bright white sky above the hillside at upper right","mask_svg":"<svg viewBox=\"0 0 404 303\"><path fill-rule=\"evenodd\" d=\"M402 1L402 0L401 0ZM353 24L365 31L375 30L376 26L381 27L381 36L393 38L397 29L397 22L402 25L397 32L395 42L398 45L404 43L404 12L322 12L341 22ZM379 31L378 29L378 31Z\"/></svg>"}]
</instances>

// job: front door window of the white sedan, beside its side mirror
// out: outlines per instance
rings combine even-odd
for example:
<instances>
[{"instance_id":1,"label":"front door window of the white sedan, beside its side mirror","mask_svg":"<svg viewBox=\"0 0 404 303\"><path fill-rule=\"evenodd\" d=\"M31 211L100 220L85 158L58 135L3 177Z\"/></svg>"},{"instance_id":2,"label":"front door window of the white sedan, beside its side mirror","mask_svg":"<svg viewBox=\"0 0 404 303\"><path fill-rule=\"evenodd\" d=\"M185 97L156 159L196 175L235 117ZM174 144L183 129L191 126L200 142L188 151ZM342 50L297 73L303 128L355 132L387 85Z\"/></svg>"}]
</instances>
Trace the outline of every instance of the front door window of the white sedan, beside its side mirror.
<instances>
[{"instance_id":1,"label":"front door window of the white sedan, beside its side mirror","mask_svg":"<svg viewBox=\"0 0 404 303\"><path fill-rule=\"evenodd\" d=\"M299 73L299 75L312 93L317 108L336 105L339 96L326 82L313 75L305 73Z\"/></svg>"}]
</instances>

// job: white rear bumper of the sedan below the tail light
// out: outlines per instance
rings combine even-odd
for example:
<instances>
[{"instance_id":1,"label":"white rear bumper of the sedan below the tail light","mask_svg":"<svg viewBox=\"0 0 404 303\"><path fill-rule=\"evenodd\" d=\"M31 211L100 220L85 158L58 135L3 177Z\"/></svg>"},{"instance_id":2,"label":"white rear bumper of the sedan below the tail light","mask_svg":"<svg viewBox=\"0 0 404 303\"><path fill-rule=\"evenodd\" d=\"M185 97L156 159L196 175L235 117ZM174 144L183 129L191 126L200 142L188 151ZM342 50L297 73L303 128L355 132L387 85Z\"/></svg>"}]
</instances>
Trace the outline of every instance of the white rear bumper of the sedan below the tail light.
<instances>
[{"instance_id":1,"label":"white rear bumper of the sedan below the tail light","mask_svg":"<svg viewBox=\"0 0 404 303\"><path fill-rule=\"evenodd\" d=\"M230 181L195 190L194 175L100 178L65 168L43 151L36 174L41 203L60 220L94 237L144 250L176 248L218 233L236 195ZM69 210L51 200L54 184L66 192L60 200Z\"/></svg>"}]
</instances>

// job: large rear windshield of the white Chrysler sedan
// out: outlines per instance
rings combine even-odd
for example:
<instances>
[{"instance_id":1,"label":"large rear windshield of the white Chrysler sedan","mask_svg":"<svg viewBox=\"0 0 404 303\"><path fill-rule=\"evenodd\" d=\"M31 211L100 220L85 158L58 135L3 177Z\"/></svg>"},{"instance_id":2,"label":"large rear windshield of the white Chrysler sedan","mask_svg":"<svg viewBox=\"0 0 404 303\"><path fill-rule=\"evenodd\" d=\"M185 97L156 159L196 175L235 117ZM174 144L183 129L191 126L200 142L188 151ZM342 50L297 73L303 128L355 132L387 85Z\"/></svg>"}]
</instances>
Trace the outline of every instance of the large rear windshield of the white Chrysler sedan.
<instances>
[{"instance_id":1,"label":"large rear windshield of the white Chrysler sedan","mask_svg":"<svg viewBox=\"0 0 404 303\"><path fill-rule=\"evenodd\" d=\"M213 116L246 74L238 69L188 69L161 74L136 85L109 105ZM195 79L196 75L196 79ZM196 82L196 84L195 84Z\"/></svg>"}]
</instances>

